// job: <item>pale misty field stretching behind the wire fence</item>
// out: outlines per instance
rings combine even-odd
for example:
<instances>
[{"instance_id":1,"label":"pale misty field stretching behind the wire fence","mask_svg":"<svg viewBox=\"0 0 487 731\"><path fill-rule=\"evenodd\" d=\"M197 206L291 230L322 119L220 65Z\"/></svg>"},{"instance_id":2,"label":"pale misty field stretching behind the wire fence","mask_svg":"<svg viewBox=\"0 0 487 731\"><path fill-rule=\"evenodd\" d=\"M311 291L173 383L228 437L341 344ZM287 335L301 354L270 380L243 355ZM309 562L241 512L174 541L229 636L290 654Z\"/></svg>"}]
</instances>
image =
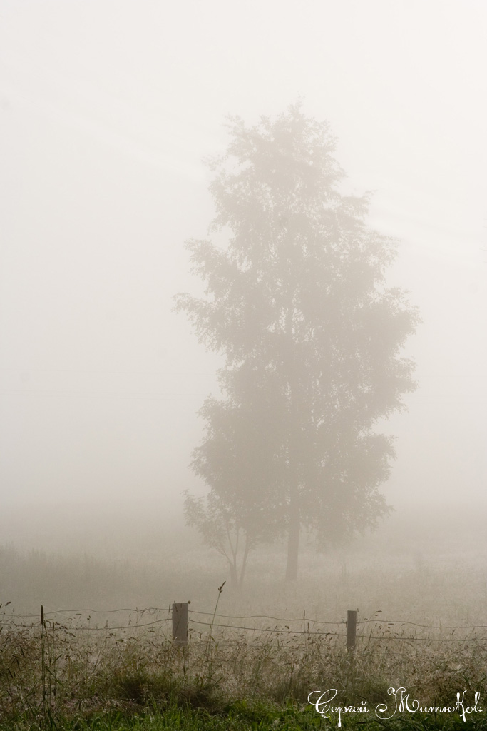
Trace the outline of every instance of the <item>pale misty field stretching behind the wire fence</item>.
<instances>
[{"instance_id":1,"label":"pale misty field stretching behind the wire fence","mask_svg":"<svg viewBox=\"0 0 487 731\"><path fill-rule=\"evenodd\" d=\"M248 577L231 587L226 560L204 548L194 531L157 518L90 523L49 521L44 537L29 543L20 526L18 541L0 547L0 602L15 614L55 610L118 610L158 607L191 600L191 610L212 612L217 588L226 581L218 610L340 621L347 610L358 619L380 611L387 620L423 624L487 624L487 544L482 511L426 507L422 515L398 512L375 534L347 548L318 554L306 545L296 583L283 580L285 547L251 554ZM7 529L5 529L7 532ZM76 548L66 544L73 535ZM87 613L83 613L85 617ZM125 618L127 615L125 613ZM106 619L102 616L103 622ZM118 617L117 617L118 619ZM95 616L92 617L95 620ZM110 618L112 624L112 618ZM195 630L197 627L195 626Z\"/></svg>"}]
</instances>

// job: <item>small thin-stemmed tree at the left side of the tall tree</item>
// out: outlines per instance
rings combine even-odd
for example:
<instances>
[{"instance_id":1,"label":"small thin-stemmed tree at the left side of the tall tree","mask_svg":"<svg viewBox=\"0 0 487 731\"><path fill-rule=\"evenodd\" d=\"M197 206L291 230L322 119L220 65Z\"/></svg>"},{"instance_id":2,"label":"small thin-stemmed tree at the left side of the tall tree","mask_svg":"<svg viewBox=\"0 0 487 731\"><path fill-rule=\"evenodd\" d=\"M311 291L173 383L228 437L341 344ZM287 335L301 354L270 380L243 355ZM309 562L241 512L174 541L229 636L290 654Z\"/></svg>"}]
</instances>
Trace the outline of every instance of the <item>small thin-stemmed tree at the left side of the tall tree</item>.
<instances>
[{"instance_id":1,"label":"small thin-stemmed tree at the left side of the tall tree","mask_svg":"<svg viewBox=\"0 0 487 731\"><path fill-rule=\"evenodd\" d=\"M204 543L229 562L233 586L242 586L248 556L275 536L277 522L269 515L279 498L270 489L272 470L266 414L249 412L230 401L208 398L200 415L206 436L193 451L191 467L210 485L206 498L185 493L185 519L196 526Z\"/></svg>"}]
</instances>

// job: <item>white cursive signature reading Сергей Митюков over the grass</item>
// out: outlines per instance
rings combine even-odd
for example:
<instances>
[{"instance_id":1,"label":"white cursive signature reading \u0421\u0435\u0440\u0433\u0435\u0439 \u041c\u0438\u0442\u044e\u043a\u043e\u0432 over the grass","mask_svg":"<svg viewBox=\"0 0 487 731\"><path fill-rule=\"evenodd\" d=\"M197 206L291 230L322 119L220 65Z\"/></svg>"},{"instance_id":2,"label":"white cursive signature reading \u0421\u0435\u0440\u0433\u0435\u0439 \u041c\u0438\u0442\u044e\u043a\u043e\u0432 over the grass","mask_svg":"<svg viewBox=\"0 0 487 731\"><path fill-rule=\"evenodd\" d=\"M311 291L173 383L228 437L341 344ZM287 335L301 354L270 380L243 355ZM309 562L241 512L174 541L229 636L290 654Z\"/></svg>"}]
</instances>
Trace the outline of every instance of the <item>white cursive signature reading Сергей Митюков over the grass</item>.
<instances>
[{"instance_id":1,"label":"white cursive signature reading \u0421\u0435\u0440\u0433\u0435\u0439 \u041c\u0438\u0442\u044e\u043a\u043e\u0432 over the grass","mask_svg":"<svg viewBox=\"0 0 487 731\"><path fill-rule=\"evenodd\" d=\"M480 693L475 693L473 705L469 705L466 695L467 691L456 694L456 702L451 705L422 705L418 700L411 699L405 688L388 688L391 695L391 702L378 703L375 708L369 708L367 701L361 700L359 705L342 705L337 700L338 691L330 688L326 691L314 690L308 696L308 702L315 706L316 712L329 719L331 716L338 717L338 727L342 726L342 718L348 713L375 713L377 719L388 721L396 713L457 713L461 719L467 721L472 713L482 713L480 708Z\"/></svg>"}]
</instances>

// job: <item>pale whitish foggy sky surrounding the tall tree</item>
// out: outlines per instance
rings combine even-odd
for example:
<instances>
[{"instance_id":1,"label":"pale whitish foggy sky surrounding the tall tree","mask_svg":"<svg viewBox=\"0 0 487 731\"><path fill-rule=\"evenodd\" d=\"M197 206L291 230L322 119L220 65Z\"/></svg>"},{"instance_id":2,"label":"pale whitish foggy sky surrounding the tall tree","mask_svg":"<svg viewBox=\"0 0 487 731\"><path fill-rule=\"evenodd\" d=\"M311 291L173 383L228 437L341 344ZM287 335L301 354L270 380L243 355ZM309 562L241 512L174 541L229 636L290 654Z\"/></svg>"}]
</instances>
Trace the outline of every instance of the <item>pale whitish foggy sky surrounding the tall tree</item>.
<instances>
[{"instance_id":1,"label":"pale whitish foggy sky surrounding the tall tree","mask_svg":"<svg viewBox=\"0 0 487 731\"><path fill-rule=\"evenodd\" d=\"M226 114L299 96L423 315L386 495L482 496L486 27L480 0L0 0L2 503L179 510L217 363L171 312L212 218L202 158Z\"/></svg>"}]
</instances>

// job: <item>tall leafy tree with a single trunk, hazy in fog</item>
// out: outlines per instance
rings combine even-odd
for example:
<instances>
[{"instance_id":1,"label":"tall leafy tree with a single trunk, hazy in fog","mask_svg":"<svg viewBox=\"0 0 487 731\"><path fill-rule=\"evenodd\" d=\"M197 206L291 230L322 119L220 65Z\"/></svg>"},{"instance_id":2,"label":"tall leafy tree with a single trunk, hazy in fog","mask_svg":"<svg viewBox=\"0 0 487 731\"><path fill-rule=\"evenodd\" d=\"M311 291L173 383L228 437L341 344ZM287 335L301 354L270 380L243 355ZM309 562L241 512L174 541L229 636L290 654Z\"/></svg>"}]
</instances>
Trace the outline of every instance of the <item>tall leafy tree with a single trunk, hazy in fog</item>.
<instances>
[{"instance_id":1,"label":"tall leafy tree with a single trunk, hazy in fog","mask_svg":"<svg viewBox=\"0 0 487 731\"><path fill-rule=\"evenodd\" d=\"M328 124L294 105L250 128L230 118L229 132L210 164L224 247L188 242L206 296L177 297L226 356L193 469L256 540L253 510L285 531L293 579L302 526L325 542L389 510L378 488L394 449L374 426L415 388L402 347L418 312L386 286L396 243L367 225L368 194L342 193Z\"/></svg>"}]
</instances>

